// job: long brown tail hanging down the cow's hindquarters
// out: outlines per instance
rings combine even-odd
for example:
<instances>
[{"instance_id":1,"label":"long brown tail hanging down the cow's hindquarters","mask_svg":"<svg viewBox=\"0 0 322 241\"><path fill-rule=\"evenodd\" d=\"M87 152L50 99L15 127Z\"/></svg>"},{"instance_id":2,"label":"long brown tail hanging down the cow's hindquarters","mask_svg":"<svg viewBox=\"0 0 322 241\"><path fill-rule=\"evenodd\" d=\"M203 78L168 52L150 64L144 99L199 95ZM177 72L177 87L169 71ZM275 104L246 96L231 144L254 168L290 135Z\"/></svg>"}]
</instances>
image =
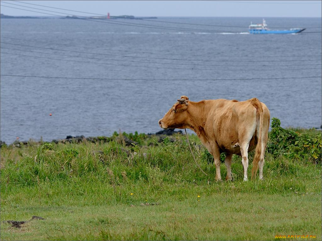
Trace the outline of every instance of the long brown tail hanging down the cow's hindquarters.
<instances>
[{"instance_id":1,"label":"long brown tail hanging down the cow's hindquarters","mask_svg":"<svg viewBox=\"0 0 322 241\"><path fill-rule=\"evenodd\" d=\"M260 116L259 137L258 137L256 149L255 149L253 167L251 169L251 180L253 180L255 178L257 170L258 170L258 163L260 161L260 156L264 155L264 153L261 153L261 150L262 150L262 130L263 130L263 108L262 108L260 101L257 98L253 98L251 100L251 104L256 108L256 110L259 112L259 116Z\"/></svg>"}]
</instances>

